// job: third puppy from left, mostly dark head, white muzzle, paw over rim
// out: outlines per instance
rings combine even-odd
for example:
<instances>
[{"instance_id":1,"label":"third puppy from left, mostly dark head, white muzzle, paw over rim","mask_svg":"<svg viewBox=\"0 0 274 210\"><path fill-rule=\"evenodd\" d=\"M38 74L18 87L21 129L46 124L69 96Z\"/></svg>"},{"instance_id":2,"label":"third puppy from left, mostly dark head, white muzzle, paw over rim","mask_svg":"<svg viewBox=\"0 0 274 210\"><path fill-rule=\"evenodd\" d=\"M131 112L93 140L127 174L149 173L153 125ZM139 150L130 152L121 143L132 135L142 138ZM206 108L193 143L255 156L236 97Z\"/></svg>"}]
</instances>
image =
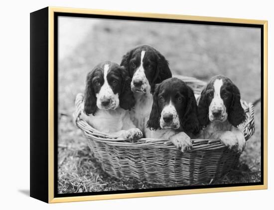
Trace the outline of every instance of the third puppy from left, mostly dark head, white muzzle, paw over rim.
<instances>
[{"instance_id":1,"label":"third puppy from left, mostly dark head, white muzzle, paw over rim","mask_svg":"<svg viewBox=\"0 0 274 210\"><path fill-rule=\"evenodd\" d=\"M170 139L182 151L190 148L190 138L199 132L193 90L175 77L156 84L147 127L147 138Z\"/></svg>"}]
</instances>

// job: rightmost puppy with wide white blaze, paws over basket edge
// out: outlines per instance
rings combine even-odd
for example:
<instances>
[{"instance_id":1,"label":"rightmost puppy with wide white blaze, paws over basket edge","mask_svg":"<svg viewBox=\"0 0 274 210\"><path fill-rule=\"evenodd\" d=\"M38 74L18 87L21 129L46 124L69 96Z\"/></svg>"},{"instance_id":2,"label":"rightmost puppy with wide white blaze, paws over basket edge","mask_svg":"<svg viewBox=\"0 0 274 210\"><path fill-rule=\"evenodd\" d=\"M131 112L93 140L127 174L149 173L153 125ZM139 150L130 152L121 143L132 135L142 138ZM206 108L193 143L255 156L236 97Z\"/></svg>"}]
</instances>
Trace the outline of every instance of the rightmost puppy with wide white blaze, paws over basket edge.
<instances>
[{"instance_id":1,"label":"rightmost puppy with wide white blaze, paws over basket edge","mask_svg":"<svg viewBox=\"0 0 274 210\"><path fill-rule=\"evenodd\" d=\"M198 119L201 138L220 139L229 148L243 151L246 140L238 126L245 119L238 87L226 76L214 76L201 93Z\"/></svg>"}]
</instances>

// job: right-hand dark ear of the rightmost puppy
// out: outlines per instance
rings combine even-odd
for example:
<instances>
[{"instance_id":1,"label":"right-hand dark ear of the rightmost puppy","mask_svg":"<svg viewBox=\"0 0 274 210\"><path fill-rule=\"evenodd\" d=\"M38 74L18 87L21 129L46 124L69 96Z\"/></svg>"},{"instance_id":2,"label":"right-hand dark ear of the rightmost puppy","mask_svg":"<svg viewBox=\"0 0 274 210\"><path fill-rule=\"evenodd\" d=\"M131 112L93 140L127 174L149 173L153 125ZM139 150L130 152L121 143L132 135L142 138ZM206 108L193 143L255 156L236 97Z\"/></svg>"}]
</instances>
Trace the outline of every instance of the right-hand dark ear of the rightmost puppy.
<instances>
[{"instance_id":1,"label":"right-hand dark ear of the rightmost puppy","mask_svg":"<svg viewBox=\"0 0 274 210\"><path fill-rule=\"evenodd\" d=\"M232 83L233 86L233 95L231 106L228 110L228 121L234 127L238 127L241 123L246 120L245 111L241 105L241 95L238 87Z\"/></svg>"}]
</instances>

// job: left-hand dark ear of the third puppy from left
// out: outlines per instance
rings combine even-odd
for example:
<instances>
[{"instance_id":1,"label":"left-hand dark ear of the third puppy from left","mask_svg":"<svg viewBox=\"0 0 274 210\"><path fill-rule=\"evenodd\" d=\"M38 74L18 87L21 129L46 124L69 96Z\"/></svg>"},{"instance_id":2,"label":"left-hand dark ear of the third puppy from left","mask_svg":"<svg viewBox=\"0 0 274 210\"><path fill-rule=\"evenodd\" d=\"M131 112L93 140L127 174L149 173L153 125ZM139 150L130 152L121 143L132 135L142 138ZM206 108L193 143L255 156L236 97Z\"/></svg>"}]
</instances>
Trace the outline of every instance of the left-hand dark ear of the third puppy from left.
<instances>
[{"instance_id":1,"label":"left-hand dark ear of the third puppy from left","mask_svg":"<svg viewBox=\"0 0 274 210\"><path fill-rule=\"evenodd\" d=\"M149 119L146 123L146 127L153 131L160 129L159 120L161 117L161 113L158 106L159 89L160 89L160 84L156 84L154 88L154 93L153 93L153 104L152 104L151 112L149 115Z\"/></svg>"}]
</instances>

